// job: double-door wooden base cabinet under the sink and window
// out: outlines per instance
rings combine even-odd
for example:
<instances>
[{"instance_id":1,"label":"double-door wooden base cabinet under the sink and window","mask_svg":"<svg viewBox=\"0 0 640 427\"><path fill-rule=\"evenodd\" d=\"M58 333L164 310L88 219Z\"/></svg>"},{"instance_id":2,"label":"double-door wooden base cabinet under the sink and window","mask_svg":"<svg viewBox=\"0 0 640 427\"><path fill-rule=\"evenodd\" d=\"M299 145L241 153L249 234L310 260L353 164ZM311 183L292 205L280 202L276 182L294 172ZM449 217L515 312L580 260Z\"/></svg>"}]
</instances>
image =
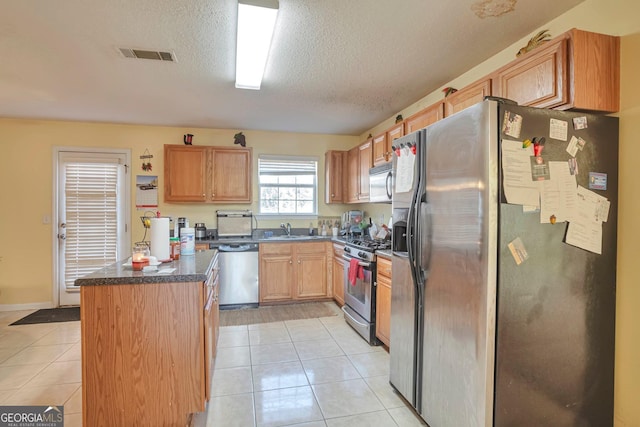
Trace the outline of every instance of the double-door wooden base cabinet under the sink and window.
<instances>
[{"instance_id":1,"label":"double-door wooden base cabinet under the sink and window","mask_svg":"<svg viewBox=\"0 0 640 427\"><path fill-rule=\"evenodd\" d=\"M331 296L325 242L261 243L259 251L260 303Z\"/></svg>"}]
</instances>

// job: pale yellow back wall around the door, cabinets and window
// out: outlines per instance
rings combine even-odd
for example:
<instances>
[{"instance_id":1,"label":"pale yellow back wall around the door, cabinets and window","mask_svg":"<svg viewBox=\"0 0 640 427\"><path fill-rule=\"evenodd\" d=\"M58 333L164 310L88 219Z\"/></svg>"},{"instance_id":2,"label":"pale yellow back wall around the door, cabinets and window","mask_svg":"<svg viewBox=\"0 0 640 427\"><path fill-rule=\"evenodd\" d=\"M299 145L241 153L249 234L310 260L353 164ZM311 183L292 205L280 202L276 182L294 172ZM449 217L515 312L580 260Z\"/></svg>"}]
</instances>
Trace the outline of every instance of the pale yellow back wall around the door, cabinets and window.
<instances>
[{"instance_id":1,"label":"pale yellow back wall around the door, cabinets and window","mask_svg":"<svg viewBox=\"0 0 640 427\"><path fill-rule=\"evenodd\" d=\"M103 147L131 150L132 241L142 239L144 230L135 210L135 176L158 175L162 188L163 146L182 144L182 135L195 135L197 145L233 146L232 130L181 129L159 126L126 126L115 124L76 123L0 119L0 144L3 164L0 167L0 309L50 304L53 301L52 224L43 217L53 217L53 150L54 147ZM293 134L277 132L244 132L247 146L253 148L253 168L258 155L299 154L317 156L319 160L319 213L338 216L342 205L324 204L324 153L329 149L345 149L355 145L357 137L337 135ZM143 172L139 156L148 149L152 172ZM215 227L216 209L240 208L257 212L257 203L166 204L159 197L162 215L186 216L191 223L204 222ZM253 200L257 200L254 174ZM310 220L290 221L294 227L308 227ZM260 220L260 227L277 226L280 220ZM315 221L314 221L315 223Z\"/></svg>"}]
</instances>

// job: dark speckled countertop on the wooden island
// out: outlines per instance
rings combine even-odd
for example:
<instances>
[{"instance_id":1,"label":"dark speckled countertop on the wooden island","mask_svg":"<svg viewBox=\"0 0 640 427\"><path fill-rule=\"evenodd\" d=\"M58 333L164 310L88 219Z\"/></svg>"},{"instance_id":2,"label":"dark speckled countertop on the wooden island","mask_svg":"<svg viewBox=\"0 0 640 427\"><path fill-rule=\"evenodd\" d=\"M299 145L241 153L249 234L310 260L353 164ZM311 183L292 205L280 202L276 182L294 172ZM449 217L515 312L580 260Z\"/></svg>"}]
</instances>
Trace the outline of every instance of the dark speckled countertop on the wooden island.
<instances>
[{"instance_id":1,"label":"dark speckled countertop on the wooden island","mask_svg":"<svg viewBox=\"0 0 640 427\"><path fill-rule=\"evenodd\" d=\"M200 251L195 255L181 256L179 260L160 264L157 271L133 271L131 267L124 267L126 262L118 261L94 273L76 279L76 286L95 285L123 285L143 283L175 283L175 282L203 282L206 280L207 269L216 250ZM173 269L163 273L163 270Z\"/></svg>"}]
</instances>

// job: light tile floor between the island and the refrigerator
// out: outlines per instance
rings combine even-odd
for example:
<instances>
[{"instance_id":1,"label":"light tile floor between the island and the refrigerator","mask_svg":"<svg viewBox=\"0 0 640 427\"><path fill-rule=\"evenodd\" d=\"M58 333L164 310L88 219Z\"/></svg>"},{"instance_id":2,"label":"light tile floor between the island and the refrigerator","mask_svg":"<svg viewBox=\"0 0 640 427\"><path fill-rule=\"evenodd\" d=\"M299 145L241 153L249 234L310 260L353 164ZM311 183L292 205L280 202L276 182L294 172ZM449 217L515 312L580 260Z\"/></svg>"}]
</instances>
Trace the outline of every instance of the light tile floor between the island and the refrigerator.
<instances>
[{"instance_id":1,"label":"light tile floor between the island and the refrigerator","mask_svg":"<svg viewBox=\"0 0 640 427\"><path fill-rule=\"evenodd\" d=\"M220 328L207 427L421 426L342 316Z\"/></svg>"}]
</instances>

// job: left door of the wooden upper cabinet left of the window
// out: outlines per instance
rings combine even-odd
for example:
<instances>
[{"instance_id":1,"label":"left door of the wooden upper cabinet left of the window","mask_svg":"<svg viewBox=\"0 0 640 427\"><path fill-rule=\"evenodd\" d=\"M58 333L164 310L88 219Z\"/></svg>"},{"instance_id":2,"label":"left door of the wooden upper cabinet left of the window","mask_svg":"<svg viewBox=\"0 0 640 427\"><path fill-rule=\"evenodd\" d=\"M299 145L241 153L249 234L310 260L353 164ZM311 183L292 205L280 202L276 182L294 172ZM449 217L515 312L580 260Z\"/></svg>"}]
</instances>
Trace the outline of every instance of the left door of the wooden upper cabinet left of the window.
<instances>
[{"instance_id":1,"label":"left door of the wooden upper cabinet left of the window","mask_svg":"<svg viewBox=\"0 0 640 427\"><path fill-rule=\"evenodd\" d=\"M207 147L187 145L164 146L165 201L206 201L207 158Z\"/></svg>"}]
</instances>

